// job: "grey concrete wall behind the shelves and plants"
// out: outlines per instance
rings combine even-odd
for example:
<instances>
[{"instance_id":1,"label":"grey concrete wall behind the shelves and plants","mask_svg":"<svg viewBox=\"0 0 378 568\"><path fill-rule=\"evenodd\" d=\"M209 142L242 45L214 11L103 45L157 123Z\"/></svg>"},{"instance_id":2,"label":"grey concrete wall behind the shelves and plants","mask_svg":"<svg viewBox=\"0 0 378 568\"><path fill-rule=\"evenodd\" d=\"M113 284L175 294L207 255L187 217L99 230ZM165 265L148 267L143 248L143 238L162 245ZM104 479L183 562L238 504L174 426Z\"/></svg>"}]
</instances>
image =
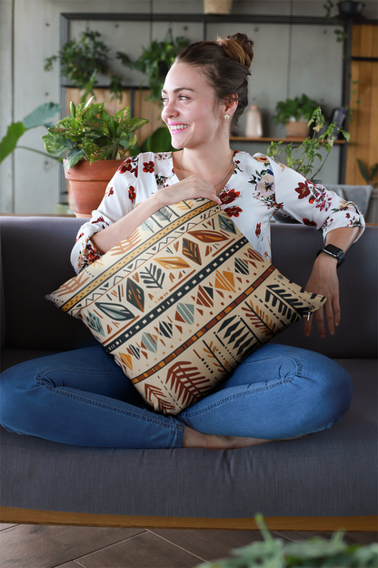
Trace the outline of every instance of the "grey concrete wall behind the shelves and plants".
<instances>
[{"instance_id":1,"label":"grey concrete wall behind the shelves and plants","mask_svg":"<svg viewBox=\"0 0 378 568\"><path fill-rule=\"evenodd\" d=\"M376 0L365 0L365 15L378 18ZM202 13L202 0L107 0L106 12L114 13ZM234 0L234 14L319 15L323 0ZM0 0L0 138L12 120L21 120L43 102L59 102L58 66L45 73L43 61L59 49L59 14L104 12L103 0ZM89 26L104 35L115 50L138 56L140 46L162 39L163 23L75 22L71 35ZM202 39L202 25L174 23L173 34L190 40ZM255 59L250 82L251 103L264 115L264 136L284 136L283 127L271 121L278 100L286 96L312 96L330 112L341 103L342 46L333 28L321 25L209 25L208 37L245 32L254 38ZM127 80L138 85L140 74L130 72ZM241 120L240 134L244 132ZM26 132L19 144L44 150L43 127ZM267 144L238 145L247 151L266 151ZM337 183L339 148L323 169L326 183ZM6 157L0 166L0 212L53 213L58 201L60 165L23 149Z\"/></svg>"}]
</instances>

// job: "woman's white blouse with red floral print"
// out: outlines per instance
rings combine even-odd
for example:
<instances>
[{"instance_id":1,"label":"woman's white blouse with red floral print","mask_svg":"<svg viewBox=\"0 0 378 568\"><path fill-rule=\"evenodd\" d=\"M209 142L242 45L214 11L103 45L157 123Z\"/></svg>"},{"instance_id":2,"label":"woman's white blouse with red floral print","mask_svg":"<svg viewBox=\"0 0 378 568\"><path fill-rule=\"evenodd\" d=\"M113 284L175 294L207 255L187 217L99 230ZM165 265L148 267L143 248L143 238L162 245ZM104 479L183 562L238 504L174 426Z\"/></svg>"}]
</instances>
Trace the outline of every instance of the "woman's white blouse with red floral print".
<instances>
[{"instance_id":1,"label":"woman's white blouse with red floral print","mask_svg":"<svg viewBox=\"0 0 378 568\"><path fill-rule=\"evenodd\" d=\"M94 233L127 215L155 191L177 183L172 153L146 152L127 157L109 182L99 208L79 230L71 262L76 273L101 257L91 241ZM323 238L333 228L364 228L363 216L352 203L315 185L290 167L264 154L234 152L234 173L222 189L224 213L232 218L265 259L271 261L270 222L274 213L304 225L322 228Z\"/></svg>"}]
</instances>

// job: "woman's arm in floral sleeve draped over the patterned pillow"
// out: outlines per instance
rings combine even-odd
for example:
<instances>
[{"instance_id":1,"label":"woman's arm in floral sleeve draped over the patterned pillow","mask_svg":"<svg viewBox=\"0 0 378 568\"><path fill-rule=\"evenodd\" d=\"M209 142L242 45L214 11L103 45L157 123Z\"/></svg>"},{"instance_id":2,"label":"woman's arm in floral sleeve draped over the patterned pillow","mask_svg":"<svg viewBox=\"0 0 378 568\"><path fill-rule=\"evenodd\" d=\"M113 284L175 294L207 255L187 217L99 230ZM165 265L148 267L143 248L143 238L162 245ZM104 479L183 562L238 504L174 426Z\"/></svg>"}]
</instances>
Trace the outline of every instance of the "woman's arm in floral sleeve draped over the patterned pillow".
<instances>
[{"instance_id":1,"label":"woman's arm in floral sleeve draped over the patterned pillow","mask_svg":"<svg viewBox=\"0 0 378 568\"><path fill-rule=\"evenodd\" d=\"M71 253L76 273L100 259L121 240L130 238L147 218L166 205L201 197L220 204L214 187L199 177L188 177L158 189L155 171L162 174L162 170L165 179L173 177L172 161L161 160L152 153L128 157L118 168L93 217L77 233Z\"/></svg>"}]
</instances>

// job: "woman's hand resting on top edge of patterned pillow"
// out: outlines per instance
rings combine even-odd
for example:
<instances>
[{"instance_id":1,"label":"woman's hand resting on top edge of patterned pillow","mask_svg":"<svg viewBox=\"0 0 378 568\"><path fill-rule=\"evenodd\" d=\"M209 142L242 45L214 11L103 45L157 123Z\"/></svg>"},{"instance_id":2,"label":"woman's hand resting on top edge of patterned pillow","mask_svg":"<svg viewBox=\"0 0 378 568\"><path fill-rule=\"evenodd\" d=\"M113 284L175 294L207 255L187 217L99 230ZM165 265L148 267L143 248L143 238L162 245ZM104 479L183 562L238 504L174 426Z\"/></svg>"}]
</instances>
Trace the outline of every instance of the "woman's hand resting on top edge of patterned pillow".
<instances>
[{"instance_id":1,"label":"woman's hand resting on top edge of patterned pillow","mask_svg":"<svg viewBox=\"0 0 378 568\"><path fill-rule=\"evenodd\" d=\"M185 177L182 181L167 188L161 188L154 196L159 199L161 208L174 205L185 199L207 198L221 205L222 201L216 195L214 186L198 176Z\"/></svg>"}]
</instances>

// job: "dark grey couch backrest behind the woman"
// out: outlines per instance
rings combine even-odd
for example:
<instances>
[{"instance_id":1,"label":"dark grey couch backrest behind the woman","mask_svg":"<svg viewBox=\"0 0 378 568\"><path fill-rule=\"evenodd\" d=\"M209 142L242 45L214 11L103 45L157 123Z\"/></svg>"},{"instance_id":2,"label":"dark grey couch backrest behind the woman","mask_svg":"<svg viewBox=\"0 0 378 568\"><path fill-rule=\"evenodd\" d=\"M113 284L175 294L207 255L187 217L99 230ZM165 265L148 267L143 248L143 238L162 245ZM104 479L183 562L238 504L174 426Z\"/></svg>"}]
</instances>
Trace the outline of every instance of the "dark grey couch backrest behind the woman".
<instances>
[{"instance_id":1,"label":"dark grey couch backrest behind the woman","mask_svg":"<svg viewBox=\"0 0 378 568\"><path fill-rule=\"evenodd\" d=\"M76 218L0 218L5 293L5 347L69 350L94 344L80 320L45 300L48 292L75 276L69 256L83 223ZM377 347L377 233L368 227L339 270L342 321L333 337L321 340L313 326L310 338L298 322L274 339L334 358L373 358ZM320 231L302 225L272 225L274 266L305 286Z\"/></svg>"}]
</instances>

